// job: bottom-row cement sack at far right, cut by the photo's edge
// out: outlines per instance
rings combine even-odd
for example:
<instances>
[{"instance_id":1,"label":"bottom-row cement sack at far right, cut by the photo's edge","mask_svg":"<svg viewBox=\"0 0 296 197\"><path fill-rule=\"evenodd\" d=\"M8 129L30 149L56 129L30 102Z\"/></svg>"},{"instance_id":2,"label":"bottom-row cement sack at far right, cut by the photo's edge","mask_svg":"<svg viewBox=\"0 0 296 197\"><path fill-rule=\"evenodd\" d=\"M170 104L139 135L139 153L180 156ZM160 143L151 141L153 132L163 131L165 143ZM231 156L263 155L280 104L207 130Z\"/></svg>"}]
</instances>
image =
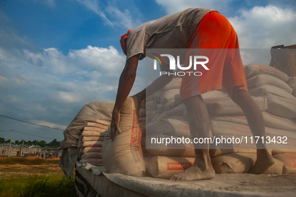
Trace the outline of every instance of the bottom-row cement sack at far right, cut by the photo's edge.
<instances>
[{"instance_id":1,"label":"bottom-row cement sack at far right, cut by the photo's edge","mask_svg":"<svg viewBox=\"0 0 296 197\"><path fill-rule=\"evenodd\" d=\"M296 154L281 153L272 156L280 161L283 161L282 174L296 174Z\"/></svg>"}]
</instances>

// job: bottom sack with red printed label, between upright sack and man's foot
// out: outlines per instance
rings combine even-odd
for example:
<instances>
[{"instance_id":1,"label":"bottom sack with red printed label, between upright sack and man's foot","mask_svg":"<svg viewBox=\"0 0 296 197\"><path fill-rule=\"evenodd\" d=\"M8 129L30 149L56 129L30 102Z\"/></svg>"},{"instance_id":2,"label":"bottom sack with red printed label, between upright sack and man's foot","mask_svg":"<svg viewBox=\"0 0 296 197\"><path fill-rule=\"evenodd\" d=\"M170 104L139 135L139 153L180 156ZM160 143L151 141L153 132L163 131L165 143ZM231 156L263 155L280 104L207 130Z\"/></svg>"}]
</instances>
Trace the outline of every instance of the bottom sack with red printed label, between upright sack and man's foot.
<instances>
[{"instance_id":1,"label":"bottom sack with red printed label, between upright sack and man's foot","mask_svg":"<svg viewBox=\"0 0 296 197\"><path fill-rule=\"evenodd\" d=\"M146 171L154 178L170 178L174 174L184 171L194 163L194 158L189 157L145 157Z\"/></svg>"}]
</instances>

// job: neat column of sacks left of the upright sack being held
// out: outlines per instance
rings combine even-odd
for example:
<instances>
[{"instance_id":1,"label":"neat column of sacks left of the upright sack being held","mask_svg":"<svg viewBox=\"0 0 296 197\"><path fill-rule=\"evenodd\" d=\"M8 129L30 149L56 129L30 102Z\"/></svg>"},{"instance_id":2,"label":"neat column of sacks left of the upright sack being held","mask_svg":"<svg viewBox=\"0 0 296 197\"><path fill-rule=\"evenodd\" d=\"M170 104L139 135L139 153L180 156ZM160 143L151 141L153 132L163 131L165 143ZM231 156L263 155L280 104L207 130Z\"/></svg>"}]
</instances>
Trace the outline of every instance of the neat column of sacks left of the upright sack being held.
<instances>
[{"instance_id":1,"label":"neat column of sacks left of the upright sack being held","mask_svg":"<svg viewBox=\"0 0 296 197\"><path fill-rule=\"evenodd\" d=\"M80 163L103 166L102 144L109 126L110 122L102 120L87 123L78 144Z\"/></svg>"}]
</instances>

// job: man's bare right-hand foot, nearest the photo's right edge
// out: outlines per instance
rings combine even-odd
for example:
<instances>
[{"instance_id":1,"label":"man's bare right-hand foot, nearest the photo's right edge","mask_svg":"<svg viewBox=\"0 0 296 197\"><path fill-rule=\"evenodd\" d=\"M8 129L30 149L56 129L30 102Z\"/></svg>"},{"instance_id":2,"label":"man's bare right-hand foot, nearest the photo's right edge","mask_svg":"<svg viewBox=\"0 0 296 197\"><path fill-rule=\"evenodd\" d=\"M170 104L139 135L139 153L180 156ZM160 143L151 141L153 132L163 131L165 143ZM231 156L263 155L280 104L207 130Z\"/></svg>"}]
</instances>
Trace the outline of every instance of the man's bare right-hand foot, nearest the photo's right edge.
<instances>
[{"instance_id":1,"label":"man's bare right-hand foot, nearest the photo's right edge","mask_svg":"<svg viewBox=\"0 0 296 197\"><path fill-rule=\"evenodd\" d=\"M273 157L265 150L257 149L257 160L254 166L250 169L249 173L261 174L265 172L268 167L274 164Z\"/></svg>"}]
</instances>

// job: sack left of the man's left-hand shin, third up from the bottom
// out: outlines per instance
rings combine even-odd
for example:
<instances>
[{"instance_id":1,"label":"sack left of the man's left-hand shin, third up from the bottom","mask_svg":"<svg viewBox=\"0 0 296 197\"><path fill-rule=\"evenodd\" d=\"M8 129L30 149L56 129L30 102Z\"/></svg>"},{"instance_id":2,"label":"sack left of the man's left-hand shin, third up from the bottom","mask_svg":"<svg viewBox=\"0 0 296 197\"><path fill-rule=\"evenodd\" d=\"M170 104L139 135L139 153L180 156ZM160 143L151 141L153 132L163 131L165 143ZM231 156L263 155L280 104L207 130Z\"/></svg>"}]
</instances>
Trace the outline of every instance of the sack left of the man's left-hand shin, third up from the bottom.
<instances>
[{"instance_id":1,"label":"sack left of the man's left-hand shin, third up from the bottom","mask_svg":"<svg viewBox=\"0 0 296 197\"><path fill-rule=\"evenodd\" d=\"M167 134L176 137L191 138L187 121L161 119L157 122L146 125L146 135Z\"/></svg>"}]
</instances>

